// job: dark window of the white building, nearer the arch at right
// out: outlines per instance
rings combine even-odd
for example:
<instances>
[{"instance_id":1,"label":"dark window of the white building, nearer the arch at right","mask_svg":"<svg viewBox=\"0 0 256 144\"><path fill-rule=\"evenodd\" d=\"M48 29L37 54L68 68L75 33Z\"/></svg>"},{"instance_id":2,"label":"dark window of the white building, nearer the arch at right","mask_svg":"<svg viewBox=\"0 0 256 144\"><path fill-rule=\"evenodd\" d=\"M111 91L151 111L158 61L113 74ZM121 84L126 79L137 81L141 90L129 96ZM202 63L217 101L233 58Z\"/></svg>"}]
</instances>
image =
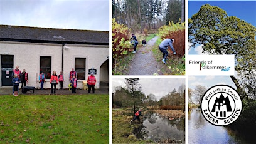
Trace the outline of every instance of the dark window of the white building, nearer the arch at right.
<instances>
[{"instance_id":1,"label":"dark window of the white building, nearer the arch at right","mask_svg":"<svg viewBox=\"0 0 256 144\"><path fill-rule=\"evenodd\" d=\"M78 80L85 80L85 59L75 58L75 71L77 71Z\"/></svg>"}]
</instances>

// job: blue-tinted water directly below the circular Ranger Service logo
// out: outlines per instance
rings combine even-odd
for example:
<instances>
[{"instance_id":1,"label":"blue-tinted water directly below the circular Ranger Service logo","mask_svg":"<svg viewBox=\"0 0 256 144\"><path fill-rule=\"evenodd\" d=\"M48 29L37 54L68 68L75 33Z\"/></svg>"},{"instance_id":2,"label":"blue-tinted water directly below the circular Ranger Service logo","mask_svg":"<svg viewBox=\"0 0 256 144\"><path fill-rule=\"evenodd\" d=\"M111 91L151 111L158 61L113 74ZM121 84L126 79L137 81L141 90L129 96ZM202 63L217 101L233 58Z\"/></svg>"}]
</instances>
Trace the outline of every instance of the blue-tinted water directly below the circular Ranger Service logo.
<instances>
[{"instance_id":1,"label":"blue-tinted water directly below the circular Ranger Service logo","mask_svg":"<svg viewBox=\"0 0 256 144\"><path fill-rule=\"evenodd\" d=\"M188 143L247 143L242 137L223 126L208 123L200 109L189 110Z\"/></svg>"}]
</instances>

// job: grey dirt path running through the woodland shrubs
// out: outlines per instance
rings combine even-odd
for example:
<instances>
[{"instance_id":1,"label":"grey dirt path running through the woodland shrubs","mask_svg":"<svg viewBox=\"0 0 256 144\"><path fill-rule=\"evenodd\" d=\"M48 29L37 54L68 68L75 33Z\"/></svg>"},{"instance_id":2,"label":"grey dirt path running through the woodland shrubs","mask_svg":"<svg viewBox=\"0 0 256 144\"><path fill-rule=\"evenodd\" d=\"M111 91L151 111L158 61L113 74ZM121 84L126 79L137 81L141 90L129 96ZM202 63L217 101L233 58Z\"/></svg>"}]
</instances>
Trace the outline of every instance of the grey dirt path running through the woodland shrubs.
<instances>
[{"instance_id":1,"label":"grey dirt path running through the woodland shrubs","mask_svg":"<svg viewBox=\"0 0 256 144\"><path fill-rule=\"evenodd\" d=\"M136 49L134 59L130 64L129 75L154 75L154 73L163 75L158 71L160 64L156 62L152 52L156 40L157 36L147 41L146 46Z\"/></svg>"}]
</instances>

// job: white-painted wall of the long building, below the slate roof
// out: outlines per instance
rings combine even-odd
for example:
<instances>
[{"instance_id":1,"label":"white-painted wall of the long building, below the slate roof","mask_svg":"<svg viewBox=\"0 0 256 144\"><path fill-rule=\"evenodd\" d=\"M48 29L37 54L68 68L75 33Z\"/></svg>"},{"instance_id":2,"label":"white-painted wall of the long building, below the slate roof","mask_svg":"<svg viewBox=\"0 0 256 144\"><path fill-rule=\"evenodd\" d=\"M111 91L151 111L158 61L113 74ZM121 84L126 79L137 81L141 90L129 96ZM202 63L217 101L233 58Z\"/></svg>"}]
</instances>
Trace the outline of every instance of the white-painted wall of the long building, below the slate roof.
<instances>
[{"instance_id":1,"label":"white-painted wall of the long building, below the slate roof","mask_svg":"<svg viewBox=\"0 0 256 144\"><path fill-rule=\"evenodd\" d=\"M95 75L97 83L95 88L99 88L100 66L107 60L107 56L109 56L109 46L66 44L65 47L68 49L63 49L64 88L68 88L68 75L71 69L75 68L75 58L86 58L85 78L88 77L88 69L92 67L97 69L97 75ZM18 65L21 71L26 69L29 76L27 86L40 87L40 83L38 83L40 56L51 56L51 72L56 71L58 75L61 71L62 44L0 41L0 54L6 52L9 55L14 55L14 68ZM103 80L105 79L103 78ZM78 80L78 88L83 88L82 81L85 80ZM44 88L50 88L50 80L46 80Z\"/></svg>"}]
</instances>

